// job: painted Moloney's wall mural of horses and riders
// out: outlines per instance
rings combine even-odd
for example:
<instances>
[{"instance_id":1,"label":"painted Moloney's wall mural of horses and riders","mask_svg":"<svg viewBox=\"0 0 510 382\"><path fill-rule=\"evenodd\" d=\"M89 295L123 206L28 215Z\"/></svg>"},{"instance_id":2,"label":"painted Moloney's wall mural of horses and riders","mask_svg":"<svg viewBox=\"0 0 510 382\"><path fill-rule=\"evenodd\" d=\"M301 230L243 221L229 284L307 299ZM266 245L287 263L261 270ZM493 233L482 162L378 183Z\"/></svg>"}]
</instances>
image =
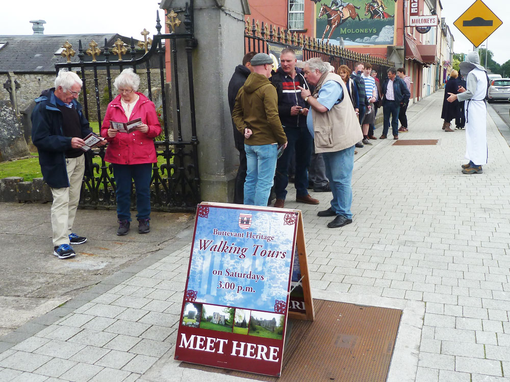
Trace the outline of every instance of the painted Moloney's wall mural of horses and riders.
<instances>
[{"instance_id":1,"label":"painted Moloney's wall mural of horses and riders","mask_svg":"<svg viewBox=\"0 0 510 382\"><path fill-rule=\"evenodd\" d=\"M317 37L335 44L393 45L396 0L312 0L316 3Z\"/></svg>"}]
</instances>

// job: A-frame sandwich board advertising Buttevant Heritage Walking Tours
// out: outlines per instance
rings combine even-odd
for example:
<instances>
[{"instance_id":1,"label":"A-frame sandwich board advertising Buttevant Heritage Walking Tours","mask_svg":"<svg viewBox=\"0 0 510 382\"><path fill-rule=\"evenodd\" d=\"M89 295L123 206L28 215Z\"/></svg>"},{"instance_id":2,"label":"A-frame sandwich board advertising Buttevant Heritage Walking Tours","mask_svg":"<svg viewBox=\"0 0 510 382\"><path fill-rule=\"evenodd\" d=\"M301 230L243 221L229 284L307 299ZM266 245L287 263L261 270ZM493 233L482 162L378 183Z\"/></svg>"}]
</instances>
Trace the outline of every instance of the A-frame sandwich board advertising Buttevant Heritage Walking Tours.
<instances>
[{"instance_id":1,"label":"A-frame sandwich board advertising Buttevant Heritage Walking Tours","mask_svg":"<svg viewBox=\"0 0 510 382\"><path fill-rule=\"evenodd\" d=\"M175 359L279 376L288 315L314 319L302 246L299 210L200 203Z\"/></svg>"}]
</instances>

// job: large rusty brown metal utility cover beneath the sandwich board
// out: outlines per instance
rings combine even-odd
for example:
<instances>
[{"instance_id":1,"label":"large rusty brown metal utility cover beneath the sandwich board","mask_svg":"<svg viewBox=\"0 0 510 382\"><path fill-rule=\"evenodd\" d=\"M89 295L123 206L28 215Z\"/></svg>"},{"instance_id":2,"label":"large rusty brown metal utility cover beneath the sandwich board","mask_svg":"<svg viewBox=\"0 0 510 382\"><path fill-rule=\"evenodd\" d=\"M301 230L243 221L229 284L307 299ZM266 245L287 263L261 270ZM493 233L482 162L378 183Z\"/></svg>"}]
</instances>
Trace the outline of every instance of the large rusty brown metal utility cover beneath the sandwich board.
<instances>
[{"instance_id":1,"label":"large rusty brown metal utility cover beneath the sandwich board","mask_svg":"<svg viewBox=\"0 0 510 382\"><path fill-rule=\"evenodd\" d=\"M384 382L402 311L318 299L314 306L315 321L290 321L279 378L184 362L181 366L271 382Z\"/></svg>"}]
</instances>

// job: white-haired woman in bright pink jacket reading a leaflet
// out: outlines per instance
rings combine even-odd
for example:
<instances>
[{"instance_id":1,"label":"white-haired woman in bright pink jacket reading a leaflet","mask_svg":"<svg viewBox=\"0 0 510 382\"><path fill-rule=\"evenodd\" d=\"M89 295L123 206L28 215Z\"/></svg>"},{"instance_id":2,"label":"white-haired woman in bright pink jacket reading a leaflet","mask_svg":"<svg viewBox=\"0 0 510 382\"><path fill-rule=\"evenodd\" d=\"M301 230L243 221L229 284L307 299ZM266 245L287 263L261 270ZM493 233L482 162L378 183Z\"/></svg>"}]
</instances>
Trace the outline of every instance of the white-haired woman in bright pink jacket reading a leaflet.
<instances>
[{"instance_id":1,"label":"white-haired woman in bright pink jacket reading a leaflet","mask_svg":"<svg viewBox=\"0 0 510 382\"><path fill-rule=\"evenodd\" d=\"M156 108L147 97L138 93L140 77L133 69L124 69L113 83L119 95L108 104L101 126L101 137L108 141L105 160L112 163L116 183L117 235L126 235L131 222L131 179L136 187L138 232L150 231L150 178L152 163L157 162L154 138L161 133ZM110 121L129 122L141 118L135 130L120 132Z\"/></svg>"}]
</instances>

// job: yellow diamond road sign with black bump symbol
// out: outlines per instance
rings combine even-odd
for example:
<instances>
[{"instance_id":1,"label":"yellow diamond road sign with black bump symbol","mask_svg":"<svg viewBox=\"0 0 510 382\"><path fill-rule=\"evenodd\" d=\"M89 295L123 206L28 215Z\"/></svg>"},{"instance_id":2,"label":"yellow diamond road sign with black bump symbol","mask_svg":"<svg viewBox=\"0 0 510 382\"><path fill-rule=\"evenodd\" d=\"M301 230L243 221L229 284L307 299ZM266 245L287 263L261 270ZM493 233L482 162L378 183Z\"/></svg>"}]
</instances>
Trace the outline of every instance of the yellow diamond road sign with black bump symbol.
<instances>
[{"instance_id":1,"label":"yellow diamond road sign with black bump symbol","mask_svg":"<svg viewBox=\"0 0 510 382\"><path fill-rule=\"evenodd\" d=\"M474 46L480 45L503 23L481 0L476 0L453 25Z\"/></svg>"}]
</instances>

